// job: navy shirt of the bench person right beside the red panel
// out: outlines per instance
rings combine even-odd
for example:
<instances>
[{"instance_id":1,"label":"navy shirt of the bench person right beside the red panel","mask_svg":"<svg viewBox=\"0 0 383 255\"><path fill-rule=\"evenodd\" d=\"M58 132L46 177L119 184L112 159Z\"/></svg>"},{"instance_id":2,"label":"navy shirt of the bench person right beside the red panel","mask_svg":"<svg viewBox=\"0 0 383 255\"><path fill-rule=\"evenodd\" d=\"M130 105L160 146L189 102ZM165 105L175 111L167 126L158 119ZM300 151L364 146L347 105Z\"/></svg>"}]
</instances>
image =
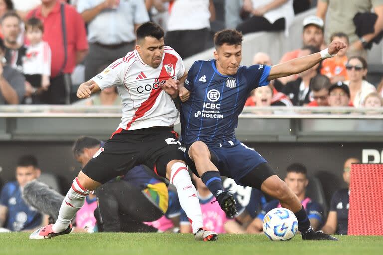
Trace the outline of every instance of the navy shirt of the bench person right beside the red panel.
<instances>
[{"instance_id":1,"label":"navy shirt of the bench person right beside the red panel","mask_svg":"<svg viewBox=\"0 0 383 255\"><path fill-rule=\"evenodd\" d=\"M349 222L349 189L337 190L330 203L330 212L337 212L337 231L336 234L347 235Z\"/></svg>"}]
</instances>

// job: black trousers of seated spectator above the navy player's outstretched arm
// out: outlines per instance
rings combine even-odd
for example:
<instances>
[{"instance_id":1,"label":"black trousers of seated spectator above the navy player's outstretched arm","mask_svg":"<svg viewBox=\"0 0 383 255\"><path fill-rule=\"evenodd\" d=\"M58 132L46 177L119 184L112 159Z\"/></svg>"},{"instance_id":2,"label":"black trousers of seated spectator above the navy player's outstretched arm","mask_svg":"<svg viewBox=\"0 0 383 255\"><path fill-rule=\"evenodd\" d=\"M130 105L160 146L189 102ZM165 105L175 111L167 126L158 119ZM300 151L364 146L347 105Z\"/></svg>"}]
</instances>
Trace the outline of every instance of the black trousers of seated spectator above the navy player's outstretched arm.
<instances>
[{"instance_id":1,"label":"black trousers of seated spectator above the navy player's outstretched arm","mask_svg":"<svg viewBox=\"0 0 383 255\"><path fill-rule=\"evenodd\" d=\"M282 31L285 29L285 18L280 18L271 24L266 18L252 16L237 26L237 30L243 34L261 31Z\"/></svg>"}]
</instances>

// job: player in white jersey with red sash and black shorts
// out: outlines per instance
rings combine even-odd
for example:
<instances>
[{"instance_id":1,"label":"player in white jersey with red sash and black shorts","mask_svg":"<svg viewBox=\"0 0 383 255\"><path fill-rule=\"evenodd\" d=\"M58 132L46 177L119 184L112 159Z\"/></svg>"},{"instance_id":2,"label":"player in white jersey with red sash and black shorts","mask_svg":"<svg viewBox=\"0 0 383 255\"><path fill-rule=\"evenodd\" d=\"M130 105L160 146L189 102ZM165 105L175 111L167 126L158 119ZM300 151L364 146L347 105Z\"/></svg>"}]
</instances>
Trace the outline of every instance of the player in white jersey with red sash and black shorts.
<instances>
[{"instance_id":1,"label":"player in white jersey with red sash and black shorts","mask_svg":"<svg viewBox=\"0 0 383 255\"><path fill-rule=\"evenodd\" d=\"M176 187L196 240L218 238L215 232L203 228L197 191L186 168L178 134L173 131L179 113L166 88L161 88L170 78L185 79L182 59L172 48L164 46L164 31L152 22L137 29L137 43L134 51L80 85L79 98L117 85L122 97L121 123L73 181L56 223L36 230L30 238L68 234L74 215L89 193L139 164L154 169Z\"/></svg>"}]
</instances>

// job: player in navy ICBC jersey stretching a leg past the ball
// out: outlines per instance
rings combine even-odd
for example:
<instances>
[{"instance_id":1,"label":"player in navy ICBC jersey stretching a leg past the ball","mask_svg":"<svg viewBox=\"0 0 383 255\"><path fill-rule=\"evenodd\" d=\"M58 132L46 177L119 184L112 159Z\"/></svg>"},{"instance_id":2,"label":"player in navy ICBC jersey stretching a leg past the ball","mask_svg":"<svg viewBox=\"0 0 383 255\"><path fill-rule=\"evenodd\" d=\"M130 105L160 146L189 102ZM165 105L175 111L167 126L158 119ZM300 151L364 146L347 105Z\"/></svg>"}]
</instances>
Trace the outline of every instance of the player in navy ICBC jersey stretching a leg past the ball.
<instances>
[{"instance_id":1,"label":"player in navy ICBC jersey stretching a leg past the ball","mask_svg":"<svg viewBox=\"0 0 383 255\"><path fill-rule=\"evenodd\" d=\"M221 175L277 198L282 207L297 216L303 239L337 240L310 227L306 211L294 192L275 174L266 159L235 138L234 129L251 90L267 85L270 80L301 73L334 56L346 45L333 41L327 49L309 56L275 66L246 67L240 66L240 32L230 29L217 32L214 44L215 59L196 61L183 89L180 81L172 79L163 86L168 93L170 88L177 88L182 100L185 91L190 93L181 110L187 164L201 177L228 216L233 216L236 209L233 197L223 189Z\"/></svg>"}]
</instances>

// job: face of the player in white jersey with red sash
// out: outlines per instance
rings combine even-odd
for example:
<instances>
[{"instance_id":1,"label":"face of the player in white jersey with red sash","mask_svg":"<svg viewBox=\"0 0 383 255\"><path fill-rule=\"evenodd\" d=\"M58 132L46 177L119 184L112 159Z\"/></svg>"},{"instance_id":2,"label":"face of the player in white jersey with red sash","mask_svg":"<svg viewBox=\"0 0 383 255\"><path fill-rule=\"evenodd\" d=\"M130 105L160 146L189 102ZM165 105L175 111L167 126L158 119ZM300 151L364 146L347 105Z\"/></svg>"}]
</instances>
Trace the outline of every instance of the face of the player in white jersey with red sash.
<instances>
[{"instance_id":1,"label":"face of the player in white jersey with red sash","mask_svg":"<svg viewBox=\"0 0 383 255\"><path fill-rule=\"evenodd\" d=\"M160 40L146 36L138 42L136 49L145 64L157 68L160 66L164 55L164 38Z\"/></svg>"}]
</instances>

